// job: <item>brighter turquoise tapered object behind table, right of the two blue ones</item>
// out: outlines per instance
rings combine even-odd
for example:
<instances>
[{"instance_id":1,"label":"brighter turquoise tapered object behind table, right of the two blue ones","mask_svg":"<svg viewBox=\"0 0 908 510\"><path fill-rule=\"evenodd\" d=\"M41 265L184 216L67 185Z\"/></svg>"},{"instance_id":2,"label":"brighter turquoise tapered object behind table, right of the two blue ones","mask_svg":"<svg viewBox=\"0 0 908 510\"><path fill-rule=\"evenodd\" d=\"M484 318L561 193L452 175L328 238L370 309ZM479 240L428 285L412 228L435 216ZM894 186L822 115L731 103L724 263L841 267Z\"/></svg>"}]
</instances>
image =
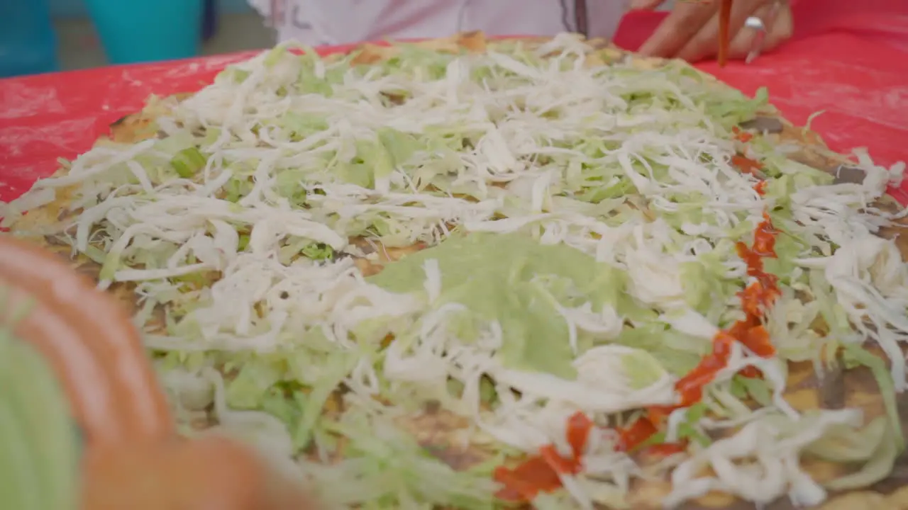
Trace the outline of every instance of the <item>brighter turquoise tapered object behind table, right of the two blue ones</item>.
<instances>
[{"instance_id":1,"label":"brighter turquoise tapered object behind table, right of the two blue ones","mask_svg":"<svg viewBox=\"0 0 908 510\"><path fill-rule=\"evenodd\" d=\"M15 0L0 0L9 2ZM202 44L202 0L85 0L111 64L189 58Z\"/></svg>"}]
</instances>

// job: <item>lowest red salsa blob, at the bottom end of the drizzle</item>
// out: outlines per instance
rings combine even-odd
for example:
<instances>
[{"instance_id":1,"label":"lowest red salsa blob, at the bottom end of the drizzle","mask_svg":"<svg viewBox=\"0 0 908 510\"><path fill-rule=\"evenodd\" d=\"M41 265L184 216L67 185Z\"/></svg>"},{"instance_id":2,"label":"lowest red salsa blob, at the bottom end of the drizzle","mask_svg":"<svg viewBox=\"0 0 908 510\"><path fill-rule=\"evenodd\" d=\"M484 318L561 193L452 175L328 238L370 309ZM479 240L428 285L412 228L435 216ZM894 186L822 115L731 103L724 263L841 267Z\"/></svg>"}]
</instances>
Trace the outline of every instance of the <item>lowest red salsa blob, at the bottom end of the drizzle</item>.
<instances>
[{"instance_id":1,"label":"lowest red salsa blob, at the bottom end of the drizzle","mask_svg":"<svg viewBox=\"0 0 908 510\"><path fill-rule=\"evenodd\" d=\"M593 429L593 422L581 412L574 413L568 418L568 431L565 434L570 445L571 456L565 457L558 453L553 445L539 448L537 456L530 456L527 460L514 468L498 466L492 477L504 485L496 497L502 501L514 503L528 503L540 492L554 492L561 486L558 475L576 475L582 466L580 457L587 447L589 432Z\"/></svg>"}]
</instances>

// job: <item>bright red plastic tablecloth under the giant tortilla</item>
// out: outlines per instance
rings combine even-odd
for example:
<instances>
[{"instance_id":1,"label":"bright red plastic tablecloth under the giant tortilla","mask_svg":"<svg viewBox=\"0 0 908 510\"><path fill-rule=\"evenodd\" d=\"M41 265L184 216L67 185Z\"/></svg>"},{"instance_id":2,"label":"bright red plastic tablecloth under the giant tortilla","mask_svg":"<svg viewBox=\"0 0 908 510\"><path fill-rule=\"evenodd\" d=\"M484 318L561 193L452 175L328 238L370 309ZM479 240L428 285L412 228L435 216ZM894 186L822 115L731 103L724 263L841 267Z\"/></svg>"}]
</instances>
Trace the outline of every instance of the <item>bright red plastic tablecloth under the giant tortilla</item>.
<instances>
[{"instance_id":1,"label":"bright red plastic tablecloth under the giant tortilla","mask_svg":"<svg viewBox=\"0 0 908 510\"><path fill-rule=\"evenodd\" d=\"M795 10L818 1L801 0ZM865 0L884 5L893 5L892 1L908 5L905 0ZM745 93L768 86L771 101L795 123L825 111L814 119L813 127L834 150L868 147L874 160L886 165L906 160L908 13L839 14L822 23L814 16L814 23L799 25L799 32L780 51L765 54L754 64L732 63L720 69L707 62L698 67ZM636 48L661 16L627 15L617 44ZM807 17L795 12L795 20ZM89 149L110 123L136 112L150 94L198 90L225 65L252 54L0 80L0 200L15 198L36 179L54 172L57 158L73 158ZM908 183L892 192L908 203Z\"/></svg>"}]
</instances>

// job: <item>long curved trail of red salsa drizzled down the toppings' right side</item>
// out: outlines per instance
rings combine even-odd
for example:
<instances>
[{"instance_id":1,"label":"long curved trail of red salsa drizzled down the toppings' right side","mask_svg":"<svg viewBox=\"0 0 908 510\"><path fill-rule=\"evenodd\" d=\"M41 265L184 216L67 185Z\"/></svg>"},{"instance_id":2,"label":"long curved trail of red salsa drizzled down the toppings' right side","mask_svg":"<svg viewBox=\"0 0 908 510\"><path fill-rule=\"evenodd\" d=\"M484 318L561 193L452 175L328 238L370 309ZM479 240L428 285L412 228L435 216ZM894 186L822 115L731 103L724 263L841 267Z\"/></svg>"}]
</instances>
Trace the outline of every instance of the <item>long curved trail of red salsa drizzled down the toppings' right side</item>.
<instances>
[{"instance_id":1,"label":"long curved trail of red salsa drizzled down the toppings' right side","mask_svg":"<svg viewBox=\"0 0 908 510\"><path fill-rule=\"evenodd\" d=\"M763 194L765 182L759 182L755 190ZM666 417L677 408L690 407L703 397L703 388L716 378L716 374L725 368L731 357L732 346L740 342L757 356L770 358L775 355L775 347L769 339L769 333L763 326L765 309L772 306L779 297L778 278L763 269L763 259L775 258L775 235L778 230L773 227L769 215L764 213L764 220L754 231L754 244L748 247L738 242L735 248L738 255L747 264L747 275L755 281L738 293L745 318L738 320L731 328L719 331L713 338L713 351L675 384L675 390L681 397L676 406L649 407L644 417L628 427L619 427L617 432L617 451L629 452L644 446L646 441L655 436ZM749 378L762 377L760 370L747 367L739 375ZM498 466L493 475L495 481L504 485L496 496L503 501L528 503L540 492L553 492L561 486L558 475L576 475L581 468L580 457L587 445L587 438L593 428L593 422L583 413L577 412L568 419L567 439L571 447L571 456L558 453L555 446L548 445L539 449L537 456L531 456L518 466L509 468ZM667 443L646 446L645 455L667 456L686 450L686 442Z\"/></svg>"}]
</instances>

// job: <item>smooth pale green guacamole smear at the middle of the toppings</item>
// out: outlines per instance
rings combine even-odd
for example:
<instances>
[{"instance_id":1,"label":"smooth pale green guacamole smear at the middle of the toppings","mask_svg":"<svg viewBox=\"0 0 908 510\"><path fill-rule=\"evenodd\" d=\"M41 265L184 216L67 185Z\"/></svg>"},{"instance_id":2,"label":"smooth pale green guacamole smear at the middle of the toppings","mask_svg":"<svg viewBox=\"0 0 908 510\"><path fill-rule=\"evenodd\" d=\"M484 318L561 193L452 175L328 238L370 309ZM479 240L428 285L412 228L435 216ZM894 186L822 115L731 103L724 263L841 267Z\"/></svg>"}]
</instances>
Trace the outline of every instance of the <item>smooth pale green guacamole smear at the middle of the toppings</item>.
<instances>
[{"instance_id":1,"label":"smooth pale green guacamole smear at the middle of the toppings","mask_svg":"<svg viewBox=\"0 0 908 510\"><path fill-rule=\"evenodd\" d=\"M369 281L392 292L423 289L427 260L441 272L438 306L459 303L501 324L498 353L506 368L577 376L563 309L615 306L624 284L615 268L565 244L541 244L522 233L457 234L388 265Z\"/></svg>"}]
</instances>

